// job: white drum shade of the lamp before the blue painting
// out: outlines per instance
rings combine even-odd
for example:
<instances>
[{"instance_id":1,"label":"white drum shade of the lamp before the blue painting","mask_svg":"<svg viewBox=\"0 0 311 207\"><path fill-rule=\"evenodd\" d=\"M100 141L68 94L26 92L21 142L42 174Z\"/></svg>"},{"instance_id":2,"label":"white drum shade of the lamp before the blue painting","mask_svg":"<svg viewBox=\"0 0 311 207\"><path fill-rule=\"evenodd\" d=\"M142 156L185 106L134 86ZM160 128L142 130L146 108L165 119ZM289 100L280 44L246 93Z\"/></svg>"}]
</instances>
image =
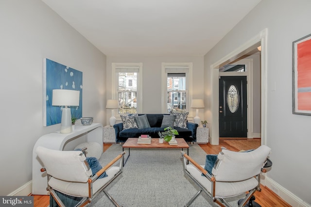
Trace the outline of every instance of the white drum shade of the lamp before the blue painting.
<instances>
[{"instance_id":1,"label":"white drum shade of the lamp before the blue painting","mask_svg":"<svg viewBox=\"0 0 311 207\"><path fill-rule=\"evenodd\" d=\"M80 91L54 89L52 106L79 106Z\"/></svg>"}]
</instances>

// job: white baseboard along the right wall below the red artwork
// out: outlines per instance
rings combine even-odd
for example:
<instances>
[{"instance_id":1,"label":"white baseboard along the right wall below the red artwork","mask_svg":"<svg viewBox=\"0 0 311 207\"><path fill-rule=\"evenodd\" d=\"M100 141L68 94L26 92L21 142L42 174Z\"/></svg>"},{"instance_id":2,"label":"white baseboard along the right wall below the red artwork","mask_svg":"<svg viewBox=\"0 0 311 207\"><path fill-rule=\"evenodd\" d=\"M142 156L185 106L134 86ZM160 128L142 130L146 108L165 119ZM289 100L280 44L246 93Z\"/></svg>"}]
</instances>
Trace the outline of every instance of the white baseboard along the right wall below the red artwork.
<instances>
[{"instance_id":1,"label":"white baseboard along the right wall below the red artwork","mask_svg":"<svg viewBox=\"0 0 311 207\"><path fill-rule=\"evenodd\" d=\"M310 204L304 202L292 192L285 189L283 186L276 183L273 179L269 177L264 178L264 185L269 188L271 191L275 192L280 196L286 203L292 207L311 207Z\"/></svg>"}]
</instances>

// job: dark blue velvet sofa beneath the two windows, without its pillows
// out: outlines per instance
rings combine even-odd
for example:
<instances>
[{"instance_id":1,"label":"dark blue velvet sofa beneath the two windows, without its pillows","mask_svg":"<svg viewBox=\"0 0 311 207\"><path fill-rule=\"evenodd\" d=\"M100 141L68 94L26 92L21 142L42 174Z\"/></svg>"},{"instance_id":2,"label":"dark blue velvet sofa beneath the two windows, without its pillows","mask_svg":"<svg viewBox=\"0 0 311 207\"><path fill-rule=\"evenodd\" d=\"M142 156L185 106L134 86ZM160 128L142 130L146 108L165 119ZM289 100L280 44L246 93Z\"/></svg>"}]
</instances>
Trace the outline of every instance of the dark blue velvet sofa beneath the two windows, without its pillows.
<instances>
[{"instance_id":1,"label":"dark blue velvet sofa beneath the two windows, without its pillows","mask_svg":"<svg viewBox=\"0 0 311 207\"><path fill-rule=\"evenodd\" d=\"M138 116L144 114L138 114ZM170 114L146 114L150 128L129 128L123 129L123 123L115 124L113 127L116 131L116 142L123 143L130 137L139 137L141 134L148 134L152 138L158 138L158 132L164 131L164 127L161 127L163 115ZM179 135L176 138L184 138L186 142L196 142L196 129L198 124L190 123L187 121L187 128L175 127Z\"/></svg>"}]
</instances>

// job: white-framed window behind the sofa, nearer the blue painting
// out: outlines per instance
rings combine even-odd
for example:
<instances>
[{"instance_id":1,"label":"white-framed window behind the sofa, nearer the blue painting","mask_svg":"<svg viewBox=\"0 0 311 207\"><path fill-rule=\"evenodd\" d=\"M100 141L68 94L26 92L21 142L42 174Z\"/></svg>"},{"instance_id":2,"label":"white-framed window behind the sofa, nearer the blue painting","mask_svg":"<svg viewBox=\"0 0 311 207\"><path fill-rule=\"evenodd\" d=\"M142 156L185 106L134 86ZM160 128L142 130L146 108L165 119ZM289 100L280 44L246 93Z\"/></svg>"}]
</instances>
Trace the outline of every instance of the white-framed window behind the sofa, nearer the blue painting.
<instances>
[{"instance_id":1,"label":"white-framed window behind the sofa, nearer the blue painting","mask_svg":"<svg viewBox=\"0 0 311 207\"><path fill-rule=\"evenodd\" d=\"M138 113L141 109L142 64L112 64L115 80L113 99L118 99L118 114Z\"/></svg>"}]
</instances>

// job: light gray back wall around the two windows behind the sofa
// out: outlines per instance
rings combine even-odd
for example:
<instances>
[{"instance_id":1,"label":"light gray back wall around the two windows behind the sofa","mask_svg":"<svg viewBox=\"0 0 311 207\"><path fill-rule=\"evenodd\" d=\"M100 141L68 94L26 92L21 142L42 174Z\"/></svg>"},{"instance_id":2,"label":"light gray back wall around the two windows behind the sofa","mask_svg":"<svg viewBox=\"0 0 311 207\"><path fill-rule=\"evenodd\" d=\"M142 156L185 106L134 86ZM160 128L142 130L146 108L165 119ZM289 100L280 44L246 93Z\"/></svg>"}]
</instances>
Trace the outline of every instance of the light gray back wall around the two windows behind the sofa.
<instances>
[{"instance_id":1,"label":"light gray back wall around the two windows behind the sofa","mask_svg":"<svg viewBox=\"0 0 311 207\"><path fill-rule=\"evenodd\" d=\"M203 98L204 92L204 77L203 56L193 57L107 57L107 99L111 98L111 64L112 63L142 63L142 112L143 113L161 113L162 98L161 98L161 64L162 63L193 63L192 68L192 98ZM189 116L195 116L195 110L190 109ZM107 113L111 111L107 110ZM201 120L204 120L203 110L199 110ZM108 122L107 117L107 122Z\"/></svg>"}]
</instances>

